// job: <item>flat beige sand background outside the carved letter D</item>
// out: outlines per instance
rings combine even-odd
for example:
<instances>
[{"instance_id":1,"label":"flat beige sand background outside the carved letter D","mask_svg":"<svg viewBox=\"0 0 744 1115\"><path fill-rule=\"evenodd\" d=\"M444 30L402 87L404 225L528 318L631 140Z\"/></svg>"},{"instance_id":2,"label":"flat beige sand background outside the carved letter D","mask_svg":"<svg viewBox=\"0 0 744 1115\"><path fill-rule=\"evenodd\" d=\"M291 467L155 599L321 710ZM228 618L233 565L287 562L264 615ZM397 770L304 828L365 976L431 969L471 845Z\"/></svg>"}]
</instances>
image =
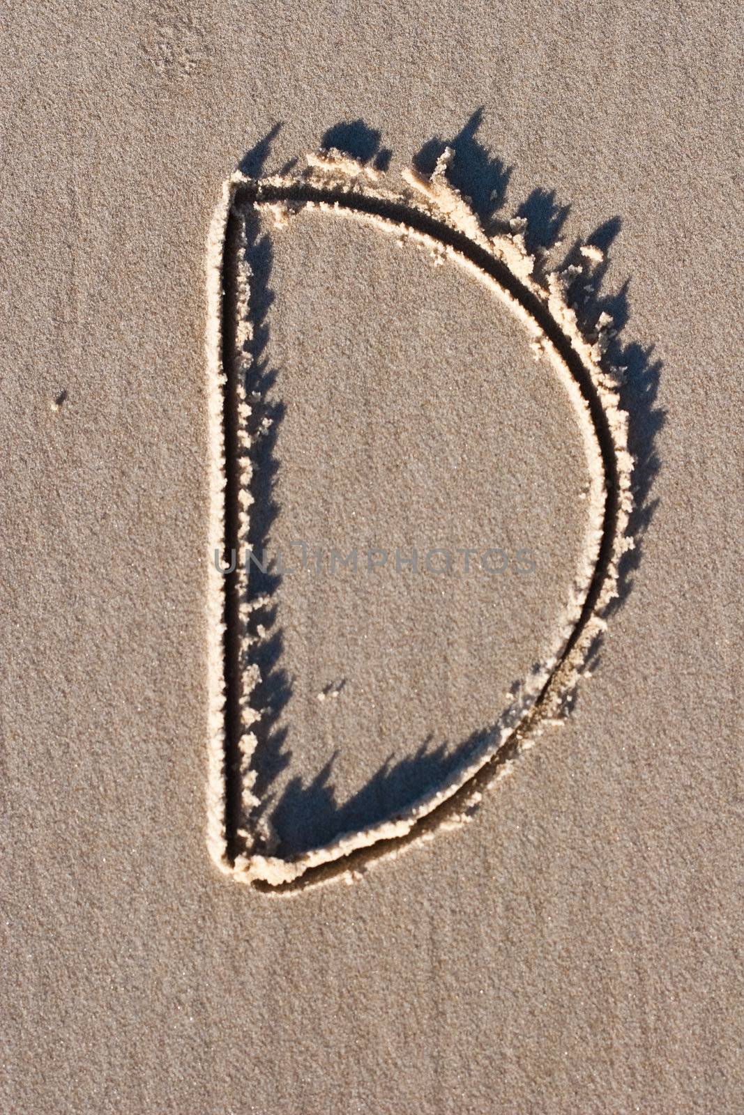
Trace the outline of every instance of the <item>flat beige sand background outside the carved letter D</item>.
<instances>
[{"instance_id":1,"label":"flat beige sand background outside the carved letter D","mask_svg":"<svg viewBox=\"0 0 744 1115\"><path fill-rule=\"evenodd\" d=\"M51 3L1 35L2 1109L741 1112L735 9ZM446 144L485 227L601 281L632 583L471 824L271 901L204 841L204 245L241 162L399 182Z\"/></svg>"}]
</instances>

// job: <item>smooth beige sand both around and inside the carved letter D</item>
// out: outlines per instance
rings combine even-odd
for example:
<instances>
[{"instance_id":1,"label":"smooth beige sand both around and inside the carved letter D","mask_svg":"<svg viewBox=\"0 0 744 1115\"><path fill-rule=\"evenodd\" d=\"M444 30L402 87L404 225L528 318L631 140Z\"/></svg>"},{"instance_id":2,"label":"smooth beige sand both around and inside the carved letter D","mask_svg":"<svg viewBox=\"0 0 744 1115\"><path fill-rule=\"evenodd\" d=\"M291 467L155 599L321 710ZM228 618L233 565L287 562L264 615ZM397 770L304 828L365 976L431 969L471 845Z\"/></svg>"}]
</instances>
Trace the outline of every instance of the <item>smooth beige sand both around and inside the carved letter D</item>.
<instances>
[{"instance_id":1,"label":"smooth beige sand both around and inside the carved letter D","mask_svg":"<svg viewBox=\"0 0 744 1115\"><path fill-rule=\"evenodd\" d=\"M711 6L8 10L3 1109L744 1107L737 30ZM636 550L562 727L467 823L269 894L207 850L207 236L239 165L336 148L399 192L446 145L484 234L550 246L541 281L580 263L587 336L612 318ZM259 788L291 857L446 782L549 653L591 469L555 369L456 261L261 222L259 534L539 559L509 591L284 578Z\"/></svg>"}]
</instances>

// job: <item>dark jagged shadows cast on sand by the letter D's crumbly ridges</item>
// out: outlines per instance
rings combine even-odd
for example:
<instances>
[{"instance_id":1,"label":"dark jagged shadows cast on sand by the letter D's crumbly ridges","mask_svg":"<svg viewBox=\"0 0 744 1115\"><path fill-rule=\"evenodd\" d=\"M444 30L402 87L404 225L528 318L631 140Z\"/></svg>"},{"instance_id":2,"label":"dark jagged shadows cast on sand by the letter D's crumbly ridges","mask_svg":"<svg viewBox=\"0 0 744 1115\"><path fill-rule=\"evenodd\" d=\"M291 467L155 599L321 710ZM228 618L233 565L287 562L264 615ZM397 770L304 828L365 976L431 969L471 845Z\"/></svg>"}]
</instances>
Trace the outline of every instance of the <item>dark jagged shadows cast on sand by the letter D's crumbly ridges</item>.
<instances>
[{"instance_id":1,"label":"dark jagged shadows cast on sand by the letter D's crumbly ridges","mask_svg":"<svg viewBox=\"0 0 744 1115\"><path fill-rule=\"evenodd\" d=\"M452 165L451 181L471 200L486 232L497 225L505 224L501 214L504 204L511 168L503 161L491 154L481 143L477 132L482 122L482 109L474 112L464 126L448 139L434 137L428 140L416 155L415 165L423 172L431 172L445 146L454 149L455 159ZM250 152L241 166L245 173L254 176L264 171L270 144L278 128L273 128L263 140ZM336 147L361 162L371 162L378 168L385 168L389 163L390 153L380 147L381 132L364 120L342 120L321 137L323 147ZM289 168L289 164L282 171ZM624 369L624 382L620 390L621 403L629 414L629 447L636 458L634 471L635 510L631 517L631 533L635 536L635 550L625 555L620 569L619 595L615 608L621 607L632 588L635 576L642 560L644 536L654 516L657 501L653 497L655 478L659 472L660 462L657 449L658 433L665 421L665 413L657 406L659 377L661 365L654 358L653 347L644 348L635 341L624 343L620 332L627 327L630 318L629 280L615 292L605 290L609 251L613 240L621 229L621 221L615 216L605 222L586 237L583 243L593 244L605 253L605 261L587 266L587 261L579 251L577 242L564 252L562 261L555 259L555 252L566 220L570 212L568 204L559 204L555 191L547 186L538 186L516 207L514 215L525 217L526 246L538 253L538 270L549 266L553 270L571 264L582 264L582 273L577 275L571 289L572 302L587 336L592 336L600 313L609 313L615 321L615 336L611 340L607 359ZM269 287L271 273L271 244L268 236L259 236L254 230L249 243L249 260L253 271L251 290L251 316L253 319L253 369L250 375L249 390L265 398L274 385L281 394L281 375L277 369L269 369L264 351L269 330L269 310L273 295ZM270 531L277 514L274 497L276 478L280 467L277 456L277 429L283 415L283 404L273 403L268 411L272 418L271 432L258 443L254 456L255 486L254 504L251 510L250 542L255 550L267 547ZM259 421L261 409L257 409L255 420ZM267 593L276 597L280 578L269 575L251 575L251 593ZM258 643L253 660L260 666L263 681L255 690L255 707L263 708L257 736L259 745L254 755L254 767L258 772L255 792L262 799L261 814L270 816L274 827L279 847L278 854L294 855L311 847L317 847L332 841L345 832L367 827L379 821L392 817L412 802L425 796L431 791L444 784L454 768L476 747L491 727L474 734L467 739L448 746L446 741L435 743L429 736L409 754L396 758L390 756L373 775L373 777L346 802L337 802L334 784L332 756L317 773L298 773L284 786L278 799L272 793L279 775L287 769L291 758L288 748L288 729L281 730L277 721L291 697L291 682L282 666L281 630L276 627L277 609L269 607L257 613L255 622L263 623L269 634L262 643ZM601 640L592 648L591 662L598 662ZM576 700L571 695L567 699L570 707Z\"/></svg>"}]
</instances>

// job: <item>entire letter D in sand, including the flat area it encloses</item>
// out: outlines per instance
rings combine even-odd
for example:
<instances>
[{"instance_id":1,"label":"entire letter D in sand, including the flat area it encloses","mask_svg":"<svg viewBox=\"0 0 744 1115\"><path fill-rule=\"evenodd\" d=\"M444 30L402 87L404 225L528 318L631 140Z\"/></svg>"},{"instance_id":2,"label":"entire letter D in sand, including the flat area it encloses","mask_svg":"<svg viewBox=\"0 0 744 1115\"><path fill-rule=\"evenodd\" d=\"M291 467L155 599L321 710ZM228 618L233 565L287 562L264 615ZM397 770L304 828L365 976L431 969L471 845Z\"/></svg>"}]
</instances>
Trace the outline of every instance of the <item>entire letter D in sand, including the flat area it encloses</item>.
<instances>
[{"instance_id":1,"label":"entire letter D in sand, including the flat area it encloses","mask_svg":"<svg viewBox=\"0 0 744 1115\"><path fill-rule=\"evenodd\" d=\"M591 272L586 274L579 264L570 264L545 270L540 281L538 272L544 269L545 260L528 252L525 236L531 230L524 217L513 219L511 230L487 235L470 201L453 185L457 168L448 146L431 175L404 168L404 182L413 187L404 194L371 187L366 180L377 182L377 172L336 148L310 153L307 162L305 174L257 181L238 172L225 184L210 231L206 280L215 555L207 589L214 723L209 845L218 866L238 881L282 888L283 892L294 889L308 873L303 888L318 878L328 881L331 864L352 882L380 855L397 856L402 844L428 841L443 825L452 827L468 820L482 801L484 786L508 774L514 757L531 748L545 726L562 725L578 679L596 655L607 615L622 591L621 562L635 547L630 531L634 462L628 452L628 414L619 398L626 369L610 358L613 320L602 312L591 333L582 331L573 304L576 285L582 282L586 289ZM280 301L270 313L277 295L269 283L278 270L281 291L286 252L261 224L267 213L274 229L281 230L279 239L291 241L290 258L297 255L286 306ZM322 230L331 217L332 224L351 221L363 231L356 243L344 243L342 262L334 260L337 240L325 241L318 229L318 220ZM299 245L296 237L284 234L292 224L301 224L306 233ZM387 256L375 260L366 273L375 249L370 231L395 237L398 249L417 249L434 266L450 262L454 264L450 270L460 269L476 279L491 295L483 306L483 319L472 320L472 313L461 304L456 277L454 289L453 280L448 287L432 281L415 263L402 266L392 258L396 253L389 245ZM580 254L593 262L603 259L597 245L581 245ZM318 264L320 282L316 284ZM339 273L352 277L342 289L336 281ZM435 301L429 307L425 292L432 285ZM380 289L399 292L395 306L387 313L380 308L370 314L368 307ZM474 292L472 283L467 291ZM409 294L408 301L404 292ZM497 399L497 416L489 415L483 403L471 397L466 428L458 429L453 397L455 384L468 371L462 366L463 358L471 366L468 379L473 367L490 367L496 347L499 362L509 368L505 375L513 375L514 365L520 362L497 339L494 301L523 327L533 357L544 359L558 380L557 391L541 398L545 377L532 369L523 391L534 401L533 413L524 414L521 400L509 406L504 391L494 394L491 388L489 397ZM373 327L371 336L361 324L365 317ZM441 337L434 336L432 318L438 321ZM268 370L274 319L281 357L277 368ZM299 331L282 337L282 320L301 323ZM463 336L487 337L490 348L479 359L472 343L461 343ZM521 338L523 348L525 339ZM424 348L436 353L434 362L422 363ZM288 369L291 363L299 365L300 377L294 380ZM313 408L311 420L302 423L308 409L305 396L310 400L315 397L317 363L328 363L336 374L329 392L334 413L320 416ZM394 389L386 391L390 374ZM438 390L437 377L443 380ZM364 417L356 433L347 423L338 423L335 413L338 392L347 390L349 381L356 386L350 410ZM379 416L374 411L371 391L375 403L381 403ZM412 403L413 411L406 414L406 404L410 407ZM422 449L419 442L410 442L404 432L416 428L427 403L434 405L425 419L428 436ZM573 423L570 418L567 423L567 409L573 409ZM296 416L302 423L299 427ZM505 435L519 430L524 439L531 430L537 442L545 416L563 430L567 425L574 427L583 448L583 484L576 475L574 462L559 464L563 456L560 443L543 462L534 449L524 459L523 444L510 454ZM289 434L278 428L286 418ZM441 446L433 435L437 423L443 434ZM340 439L334 437L335 429ZM479 462L472 443L481 429L487 432L490 453L481 454ZM370 442L377 450L371 455L365 452ZM458 447L454 468L447 466L453 446ZM496 476L499 454L509 460L512 474L516 471L522 485L518 502L509 508L504 478ZM439 462L445 462L444 468ZM531 466L535 472L530 483ZM543 481L551 472L567 474L563 478L569 493L560 508L554 506L551 486ZM339 474L351 478L350 492L346 479L339 482ZM484 476L489 483L482 491ZM359 491L359 478L366 491ZM528 487L530 491L524 491ZM495 535L484 533L487 529L480 513L493 498L494 488L505 520ZM318 496L320 506L316 508L312 502ZM434 521L429 522L432 510ZM541 529L534 521L538 510L550 516L548 534L544 525ZM452 542L453 512L463 520L460 529L473 535L470 542L482 540L479 545L461 547ZM577 518L583 520L580 529ZM545 580L550 582L555 573L557 521L562 542L571 533L576 537L566 547L570 565L562 570L563 583L551 609L542 597ZM508 543L516 522L523 532L521 541L530 540L526 547L519 539ZM323 552L329 543L307 541L317 530L323 537L332 537L330 553ZM368 541L361 547L365 584L358 580L356 532L360 530ZM416 545L409 541L412 530L417 531ZM392 545L392 531L399 532L398 541L408 539L405 549ZM300 539L292 539L298 534ZM428 537L424 545L422 537ZM374 545L369 544L371 539ZM267 543L274 545L272 559L268 558ZM294 550L299 550L299 565L292 569L288 555ZM345 573L349 571L342 588L335 583L341 566ZM397 581L398 590L392 599L390 578ZM480 585L474 585L475 578L481 579ZM555 593L554 585L551 589ZM513 605L509 617L494 610L499 590ZM530 630L534 623L529 615L540 604L551 614L548 621L542 617L539 627L547 631L541 649L535 650ZM334 624L330 639L321 637L320 644L312 636L308 640L308 632L322 632L328 621L339 615L341 623ZM475 662L472 636L485 617L486 638L480 638L475 646L483 660ZM456 619L464 626L457 633L453 630ZM424 646L412 639L412 628L425 636ZM361 648L360 629L368 640ZM530 649L525 652L520 637L528 632ZM298 633L300 640L294 644ZM351 646L345 646L348 634ZM442 726L433 718L442 706L443 682L447 686L454 680L452 667L442 678L432 668L432 659L437 652L451 659L457 646L467 656L467 673L461 666L456 676L465 707L455 709L447 702L451 716L444 730L467 730L464 743L451 749L446 740L439 743ZM415 668L408 671L410 660ZM307 700L301 706L292 701L292 690L301 688L300 679L312 686L317 667L328 670L332 662L341 680L327 682L316 698L338 698L347 688L347 672L352 672L349 688L358 695L358 708L356 727L347 741L338 736L338 721L317 723L312 702L308 708ZM508 690L506 662L512 675ZM291 683L286 680L286 665L297 673ZM502 692L509 701L499 715L493 709L480 710L477 723L472 675L481 672L492 687L496 709ZM428 689L427 680L433 682ZM355 697L345 695L345 711L354 704ZM381 723L378 709L387 714ZM407 723L414 709L415 727ZM291 723L293 716L297 726ZM412 734L421 737L422 717L427 730L415 750L416 769L408 773L405 791L398 787L393 792L385 784L393 776L395 747L408 744ZM334 740L335 750L318 760L322 736ZM434 739L441 769L424 772L419 769L424 762L432 765ZM284 753L286 740L291 749ZM377 770L369 768L370 754L376 750L379 763L380 748L390 746L394 750ZM313 770L308 786L297 775L289 782L280 778L283 768L294 768L291 760L299 750L307 753L302 759L306 768L309 764L311 770L313 765L321 770L319 775ZM410 759L405 757L403 763ZM327 785L331 770L338 782L339 766L350 766L358 777L365 765L368 768L356 795L339 809L337 787ZM325 838L317 830L321 786L329 798L326 812L337 811L337 816L326 820ZM369 797L373 786L376 801L368 811L361 807L360 795ZM278 794L279 803L270 815ZM277 816L286 821L287 833L278 831ZM311 818L315 827L308 824ZM299 830L305 831L305 838ZM277 854L282 845L284 854Z\"/></svg>"}]
</instances>

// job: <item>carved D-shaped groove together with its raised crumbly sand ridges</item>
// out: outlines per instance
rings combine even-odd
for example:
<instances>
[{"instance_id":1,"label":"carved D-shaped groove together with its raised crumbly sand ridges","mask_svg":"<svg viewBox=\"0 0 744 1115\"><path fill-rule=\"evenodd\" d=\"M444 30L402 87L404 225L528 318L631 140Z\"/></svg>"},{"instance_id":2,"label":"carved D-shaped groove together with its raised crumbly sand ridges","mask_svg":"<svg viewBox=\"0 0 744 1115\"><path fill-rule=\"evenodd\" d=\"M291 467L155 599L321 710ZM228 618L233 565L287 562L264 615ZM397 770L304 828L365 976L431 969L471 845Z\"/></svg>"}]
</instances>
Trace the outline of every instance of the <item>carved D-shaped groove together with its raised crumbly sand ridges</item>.
<instances>
[{"instance_id":1,"label":"carved D-shaped groove together with its raised crumbly sand ridges","mask_svg":"<svg viewBox=\"0 0 744 1115\"><path fill-rule=\"evenodd\" d=\"M593 339L581 333L567 302L567 278L551 273L544 284L534 278L534 260L525 250L520 222L512 222L509 232L486 236L471 207L448 183L451 157L445 151L431 177L405 171L400 192L381 185L370 167L335 151L308 156L307 169L294 176L251 180L235 173L224 184L207 254L210 553L216 549L226 554L244 544L250 515L250 405L243 384L250 359L244 342L251 336L251 277L244 253L239 253L242 263L233 291L235 304L226 306L225 243L231 236L238 244L244 243L244 214L250 210L270 212L281 229L305 207L361 221L422 244L438 259L463 266L519 318L535 357L550 363L563 380L579 418L590 481L583 551L550 656L524 680L496 727L447 783L386 821L292 859L268 854L271 833L252 820L260 805L251 767L257 744L253 725L260 718L251 695L259 676L255 665L245 663L254 638L249 614L262 607L262 601L251 601L248 595L244 564L241 568L238 563L231 582L210 564L207 843L223 872L273 893L335 878L354 881L371 861L395 856L406 846L431 840L443 827L464 824L485 786L508 774L520 752L567 715L568 698L617 594L618 562L632 546L627 536L632 467L627 415L618 406L618 372L603 360L611 321L603 316ZM584 255L590 262L601 259L591 245ZM226 312L236 316L230 362L223 351Z\"/></svg>"}]
</instances>

